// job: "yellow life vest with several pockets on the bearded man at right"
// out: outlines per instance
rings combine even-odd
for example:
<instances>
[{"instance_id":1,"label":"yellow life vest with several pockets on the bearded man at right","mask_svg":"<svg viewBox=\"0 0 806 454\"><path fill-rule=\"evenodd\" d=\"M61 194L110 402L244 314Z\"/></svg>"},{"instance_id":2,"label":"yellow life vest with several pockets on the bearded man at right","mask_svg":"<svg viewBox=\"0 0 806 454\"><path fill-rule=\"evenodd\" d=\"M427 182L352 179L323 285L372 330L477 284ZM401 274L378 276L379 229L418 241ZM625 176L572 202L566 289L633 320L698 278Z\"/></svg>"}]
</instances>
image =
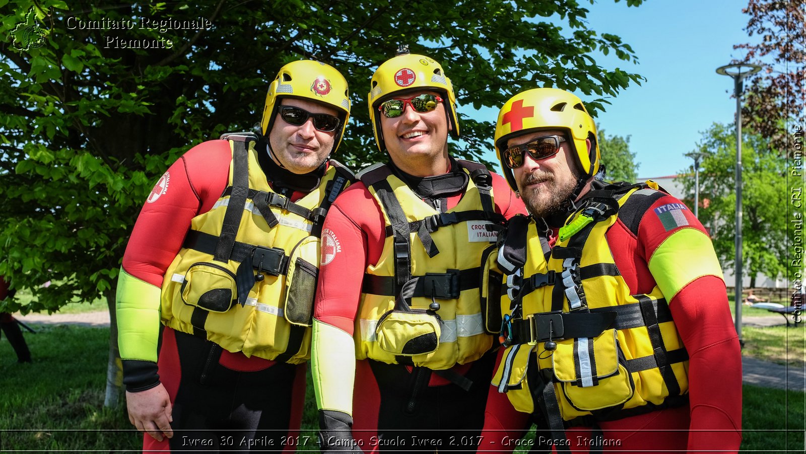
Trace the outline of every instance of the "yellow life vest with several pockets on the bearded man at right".
<instances>
[{"instance_id":1,"label":"yellow life vest with several pockets on the bearded man at right","mask_svg":"<svg viewBox=\"0 0 806 454\"><path fill-rule=\"evenodd\" d=\"M518 411L545 415L554 433L686 402L688 354L667 301L657 286L630 294L605 237L629 196L657 188L592 190L550 255L534 218L507 229L498 251L507 347L492 383Z\"/></svg>"}]
</instances>

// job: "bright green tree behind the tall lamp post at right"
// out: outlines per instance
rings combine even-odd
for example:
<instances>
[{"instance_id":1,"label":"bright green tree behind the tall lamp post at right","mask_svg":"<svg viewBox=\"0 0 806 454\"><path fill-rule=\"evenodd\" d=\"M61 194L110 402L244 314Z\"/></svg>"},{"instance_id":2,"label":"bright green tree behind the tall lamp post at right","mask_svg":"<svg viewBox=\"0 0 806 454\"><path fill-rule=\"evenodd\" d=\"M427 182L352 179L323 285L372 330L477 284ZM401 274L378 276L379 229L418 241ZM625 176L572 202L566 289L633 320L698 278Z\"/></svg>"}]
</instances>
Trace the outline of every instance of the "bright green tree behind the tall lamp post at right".
<instances>
[{"instance_id":1,"label":"bright green tree behind the tall lamp post at right","mask_svg":"<svg viewBox=\"0 0 806 454\"><path fill-rule=\"evenodd\" d=\"M714 123L703 133L700 162L700 221L708 227L724 268L736 259L735 126ZM755 287L759 273L783 275L787 258L786 162L760 134L742 134L742 267ZM694 199L694 171L679 177Z\"/></svg>"}]
</instances>

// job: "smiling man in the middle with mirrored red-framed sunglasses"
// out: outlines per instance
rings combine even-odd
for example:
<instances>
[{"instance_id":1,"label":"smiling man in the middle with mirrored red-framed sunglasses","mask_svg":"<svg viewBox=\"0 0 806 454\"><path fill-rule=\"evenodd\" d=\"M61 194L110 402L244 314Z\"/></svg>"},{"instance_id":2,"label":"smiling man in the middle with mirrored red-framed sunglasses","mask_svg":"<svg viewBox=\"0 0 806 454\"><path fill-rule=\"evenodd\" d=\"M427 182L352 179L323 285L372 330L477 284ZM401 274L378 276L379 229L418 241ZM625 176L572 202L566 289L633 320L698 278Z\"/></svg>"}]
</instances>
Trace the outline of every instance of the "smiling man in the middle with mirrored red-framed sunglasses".
<instances>
[{"instance_id":1,"label":"smiling man in the middle with mirrored red-framed sunglasses","mask_svg":"<svg viewBox=\"0 0 806 454\"><path fill-rule=\"evenodd\" d=\"M311 357L322 452L475 452L494 359L479 263L488 226L525 209L501 176L449 155L459 122L436 61L384 62L368 104L390 161L339 196L322 233Z\"/></svg>"}]
</instances>

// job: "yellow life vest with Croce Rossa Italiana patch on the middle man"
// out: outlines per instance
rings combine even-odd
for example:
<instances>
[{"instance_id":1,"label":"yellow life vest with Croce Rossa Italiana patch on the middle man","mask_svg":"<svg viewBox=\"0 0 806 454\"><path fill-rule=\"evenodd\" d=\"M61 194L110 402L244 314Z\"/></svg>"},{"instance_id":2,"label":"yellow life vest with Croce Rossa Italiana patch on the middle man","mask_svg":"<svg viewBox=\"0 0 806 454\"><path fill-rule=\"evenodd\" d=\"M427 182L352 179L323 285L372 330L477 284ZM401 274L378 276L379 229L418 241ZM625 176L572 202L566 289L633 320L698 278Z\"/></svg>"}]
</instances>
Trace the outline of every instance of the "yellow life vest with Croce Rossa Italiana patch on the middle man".
<instances>
[{"instance_id":1,"label":"yellow life vest with Croce Rossa Italiana patch on the middle man","mask_svg":"<svg viewBox=\"0 0 806 454\"><path fill-rule=\"evenodd\" d=\"M449 369L492 347L480 307L480 256L496 241L492 178L480 163L457 161L468 176L459 204L442 212L387 165L359 175L384 213L380 260L364 274L355 349L358 359ZM497 327L496 327L497 328Z\"/></svg>"}]
</instances>

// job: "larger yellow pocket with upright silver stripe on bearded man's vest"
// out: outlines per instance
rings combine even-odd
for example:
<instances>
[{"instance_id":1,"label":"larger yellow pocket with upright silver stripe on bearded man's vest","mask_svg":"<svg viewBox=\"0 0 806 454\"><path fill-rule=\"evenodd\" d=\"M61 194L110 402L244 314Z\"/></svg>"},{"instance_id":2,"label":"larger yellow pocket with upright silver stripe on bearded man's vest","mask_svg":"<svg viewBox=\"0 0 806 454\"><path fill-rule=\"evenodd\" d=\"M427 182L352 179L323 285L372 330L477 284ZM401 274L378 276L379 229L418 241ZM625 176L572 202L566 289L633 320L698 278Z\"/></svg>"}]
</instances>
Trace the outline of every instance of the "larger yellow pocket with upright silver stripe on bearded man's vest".
<instances>
[{"instance_id":1,"label":"larger yellow pocket with upright silver stripe on bearded man's vest","mask_svg":"<svg viewBox=\"0 0 806 454\"><path fill-rule=\"evenodd\" d=\"M633 397L633 378L625 367L615 329L593 338L559 341L551 361L563 394L577 410L613 407Z\"/></svg>"}]
</instances>

